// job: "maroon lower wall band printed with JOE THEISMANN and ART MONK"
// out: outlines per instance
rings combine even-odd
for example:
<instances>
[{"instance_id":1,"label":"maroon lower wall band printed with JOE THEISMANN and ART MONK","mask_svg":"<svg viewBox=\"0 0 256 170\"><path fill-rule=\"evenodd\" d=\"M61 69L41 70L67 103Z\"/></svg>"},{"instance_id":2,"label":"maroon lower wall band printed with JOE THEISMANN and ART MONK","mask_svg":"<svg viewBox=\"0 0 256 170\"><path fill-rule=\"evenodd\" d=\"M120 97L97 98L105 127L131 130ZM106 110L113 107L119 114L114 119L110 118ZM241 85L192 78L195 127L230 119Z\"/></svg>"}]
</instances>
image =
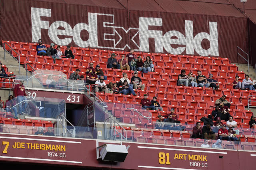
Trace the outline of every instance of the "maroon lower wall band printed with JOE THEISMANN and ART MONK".
<instances>
[{"instance_id":1,"label":"maroon lower wall band printed with JOE THEISMANN and ART MONK","mask_svg":"<svg viewBox=\"0 0 256 170\"><path fill-rule=\"evenodd\" d=\"M113 141L112 141L113 142ZM99 146L108 141L99 141ZM113 143L112 143L113 144ZM116 141L114 144L120 145ZM124 162L96 159L96 140L0 134L0 162L40 163L113 169L254 169L255 151L126 143Z\"/></svg>"}]
</instances>

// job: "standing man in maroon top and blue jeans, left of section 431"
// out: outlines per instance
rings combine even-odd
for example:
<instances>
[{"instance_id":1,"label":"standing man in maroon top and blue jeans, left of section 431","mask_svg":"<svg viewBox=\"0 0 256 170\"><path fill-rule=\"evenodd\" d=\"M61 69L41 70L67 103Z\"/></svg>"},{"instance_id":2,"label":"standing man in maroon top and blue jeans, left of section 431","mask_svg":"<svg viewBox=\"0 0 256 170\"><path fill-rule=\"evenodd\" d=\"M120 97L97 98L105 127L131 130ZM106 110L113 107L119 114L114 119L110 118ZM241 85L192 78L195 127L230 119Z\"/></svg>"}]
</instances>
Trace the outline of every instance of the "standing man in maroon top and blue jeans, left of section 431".
<instances>
[{"instance_id":1,"label":"standing man in maroon top and blue jeans, left of section 431","mask_svg":"<svg viewBox=\"0 0 256 170\"><path fill-rule=\"evenodd\" d=\"M23 86L23 84L24 84L24 80L21 80L20 83L16 84L16 86L14 87L14 96L17 97L17 99L18 99L20 115L22 113L25 114L25 109L28 106L27 102L22 102L24 100L27 100L26 90L25 90L25 87Z\"/></svg>"}]
</instances>

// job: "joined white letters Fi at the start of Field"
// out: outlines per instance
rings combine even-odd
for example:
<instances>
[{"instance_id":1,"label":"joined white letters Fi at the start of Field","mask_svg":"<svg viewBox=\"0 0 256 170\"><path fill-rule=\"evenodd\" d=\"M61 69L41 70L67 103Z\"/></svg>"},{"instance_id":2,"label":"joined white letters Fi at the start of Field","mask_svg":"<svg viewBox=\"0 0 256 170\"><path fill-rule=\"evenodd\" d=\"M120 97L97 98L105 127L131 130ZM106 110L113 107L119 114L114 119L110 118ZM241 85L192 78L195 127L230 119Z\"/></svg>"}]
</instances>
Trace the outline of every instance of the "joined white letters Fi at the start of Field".
<instances>
[{"instance_id":1,"label":"joined white letters Fi at the start of Field","mask_svg":"<svg viewBox=\"0 0 256 170\"><path fill-rule=\"evenodd\" d=\"M148 26L162 26L162 18L139 17L140 51L149 52L148 38L155 39L156 53L163 53L162 31L148 30Z\"/></svg>"}]
</instances>

